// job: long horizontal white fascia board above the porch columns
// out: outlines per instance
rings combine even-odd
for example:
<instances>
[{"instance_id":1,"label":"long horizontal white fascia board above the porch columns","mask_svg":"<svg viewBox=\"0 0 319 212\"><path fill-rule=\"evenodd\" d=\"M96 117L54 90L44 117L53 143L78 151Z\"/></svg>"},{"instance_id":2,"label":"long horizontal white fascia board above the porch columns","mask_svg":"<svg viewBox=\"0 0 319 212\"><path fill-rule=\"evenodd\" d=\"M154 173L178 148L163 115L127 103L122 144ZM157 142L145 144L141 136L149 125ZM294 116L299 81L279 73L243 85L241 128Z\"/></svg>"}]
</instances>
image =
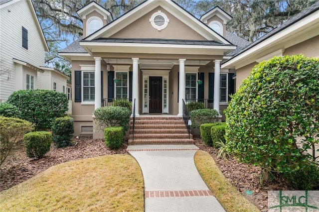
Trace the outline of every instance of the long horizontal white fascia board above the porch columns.
<instances>
[{"instance_id":1,"label":"long horizontal white fascia board above the porch columns","mask_svg":"<svg viewBox=\"0 0 319 212\"><path fill-rule=\"evenodd\" d=\"M188 49L223 49L235 50L236 46L209 46L209 45L184 45L184 44L160 44L160 43L97 43L80 42L80 46L123 46L123 47L151 47L151 48L188 48Z\"/></svg>"}]
</instances>

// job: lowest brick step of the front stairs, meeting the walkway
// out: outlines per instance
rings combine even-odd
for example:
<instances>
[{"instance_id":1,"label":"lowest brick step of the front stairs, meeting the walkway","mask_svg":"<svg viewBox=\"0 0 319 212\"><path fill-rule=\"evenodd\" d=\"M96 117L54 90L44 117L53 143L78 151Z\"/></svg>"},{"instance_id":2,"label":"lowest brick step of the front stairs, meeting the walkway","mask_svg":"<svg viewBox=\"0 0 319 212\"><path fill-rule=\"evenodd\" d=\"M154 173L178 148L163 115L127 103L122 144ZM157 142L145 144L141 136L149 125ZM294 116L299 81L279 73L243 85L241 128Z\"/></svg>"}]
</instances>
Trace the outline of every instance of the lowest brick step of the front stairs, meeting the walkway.
<instances>
[{"instance_id":1,"label":"lowest brick step of the front stairs, meeting the walkway","mask_svg":"<svg viewBox=\"0 0 319 212\"><path fill-rule=\"evenodd\" d=\"M193 139L129 139L129 145L194 144Z\"/></svg>"}]
</instances>

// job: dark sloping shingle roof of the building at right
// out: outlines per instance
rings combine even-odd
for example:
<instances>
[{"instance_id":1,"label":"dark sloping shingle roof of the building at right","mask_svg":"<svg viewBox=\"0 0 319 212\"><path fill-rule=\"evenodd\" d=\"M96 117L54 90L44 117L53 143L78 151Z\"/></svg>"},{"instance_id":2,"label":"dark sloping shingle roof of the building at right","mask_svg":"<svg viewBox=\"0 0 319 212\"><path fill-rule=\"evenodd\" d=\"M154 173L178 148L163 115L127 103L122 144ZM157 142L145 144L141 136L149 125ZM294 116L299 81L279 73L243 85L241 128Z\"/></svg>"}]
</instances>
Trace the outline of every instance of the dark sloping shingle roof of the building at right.
<instances>
[{"instance_id":1,"label":"dark sloping shingle roof of the building at right","mask_svg":"<svg viewBox=\"0 0 319 212\"><path fill-rule=\"evenodd\" d=\"M268 32L263 37L261 37L258 40L254 41L253 43L251 43L250 45L248 45L246 48L242 49L238 53L234 54L233 56L236 57L236 56L240 55L241 53L247 51L248 49L250 49L250 48L252 48L254 46L256 46L257 44L263 42L264 40L266 40L269 37L275 35L276 33L284 30L285 28L287 28L290 25L296 23L297 21L303 19L304 17L310 15L311 13L317 11L318 9L319 9L319 1L317 1L313 5L309 6L308 8L304 9L303 11L301 11L296 16L288 19L286 22L282 23L281 25L277 26L275 29L273 29L272 31Z\"/></svg>"}]
</instances>

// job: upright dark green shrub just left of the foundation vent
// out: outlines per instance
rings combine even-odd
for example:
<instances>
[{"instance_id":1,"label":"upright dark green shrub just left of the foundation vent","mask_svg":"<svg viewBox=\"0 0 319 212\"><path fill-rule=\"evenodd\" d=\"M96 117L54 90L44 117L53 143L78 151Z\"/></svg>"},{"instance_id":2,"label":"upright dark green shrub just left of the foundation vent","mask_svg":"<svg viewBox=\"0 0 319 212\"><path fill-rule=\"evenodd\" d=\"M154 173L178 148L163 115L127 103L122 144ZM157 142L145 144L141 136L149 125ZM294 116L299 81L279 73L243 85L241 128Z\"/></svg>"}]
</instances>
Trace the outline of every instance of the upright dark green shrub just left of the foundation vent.
<instances>
[{"instance_id":1,"label":"upright dark green shrub just left of the foundation vent","mask_svg":"<svg viewBox=\"0 0 319 212\"><path fill-rule=\"evenodd\" d=\"M69 116L59 117L53 121L51 131L57 148L73 145L71 140L74 133L73 122L73 118Z\"/></svg>"}]
</instances>

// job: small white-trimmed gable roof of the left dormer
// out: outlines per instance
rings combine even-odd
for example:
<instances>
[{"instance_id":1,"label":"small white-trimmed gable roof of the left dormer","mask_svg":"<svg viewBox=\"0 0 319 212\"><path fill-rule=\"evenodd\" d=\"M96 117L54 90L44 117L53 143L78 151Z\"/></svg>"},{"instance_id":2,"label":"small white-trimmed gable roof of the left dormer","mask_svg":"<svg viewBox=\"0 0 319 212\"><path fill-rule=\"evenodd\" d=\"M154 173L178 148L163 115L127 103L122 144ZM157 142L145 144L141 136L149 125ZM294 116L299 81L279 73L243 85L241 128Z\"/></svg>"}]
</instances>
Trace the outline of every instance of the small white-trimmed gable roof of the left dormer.
<instances>
[{"instance_id":1,"label":"small white-trimmed gable roof of the left dormer","mask_svg":"<svg viewBox=\"0 0 319 212\"><path fill-rule=\"evenodd\" d=\"M86 18L87 14L91 13L94 10L97 10L100 14L102 14L103 18L107 20L108 23L113 21L112 13L95 1L91 1L90 3L83 6L81 9L78 9L76 12L83 19Z\"/></svg>"}]
</instances>

